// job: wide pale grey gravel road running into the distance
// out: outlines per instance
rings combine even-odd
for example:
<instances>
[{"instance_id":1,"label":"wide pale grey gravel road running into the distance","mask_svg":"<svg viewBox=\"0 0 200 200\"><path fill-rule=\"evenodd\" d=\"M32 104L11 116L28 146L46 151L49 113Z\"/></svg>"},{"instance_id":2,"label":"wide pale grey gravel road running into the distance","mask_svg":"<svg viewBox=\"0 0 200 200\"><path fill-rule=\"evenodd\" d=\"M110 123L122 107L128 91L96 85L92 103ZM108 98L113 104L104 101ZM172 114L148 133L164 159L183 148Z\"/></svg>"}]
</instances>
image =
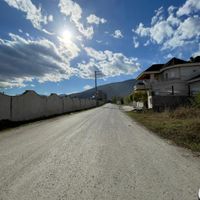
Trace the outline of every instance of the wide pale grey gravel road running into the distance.
<instances>
[{"instance_id":1,"label":"wide pale grey gravel road running into the distance","mask_svg":"<svg viewBox=\"0 0 200 200\"><path fill-rule=\"evenodd\" d=\"M0 133L1 200L196 200L200 159L118 106Z\"/></svg>"}]
</instances>

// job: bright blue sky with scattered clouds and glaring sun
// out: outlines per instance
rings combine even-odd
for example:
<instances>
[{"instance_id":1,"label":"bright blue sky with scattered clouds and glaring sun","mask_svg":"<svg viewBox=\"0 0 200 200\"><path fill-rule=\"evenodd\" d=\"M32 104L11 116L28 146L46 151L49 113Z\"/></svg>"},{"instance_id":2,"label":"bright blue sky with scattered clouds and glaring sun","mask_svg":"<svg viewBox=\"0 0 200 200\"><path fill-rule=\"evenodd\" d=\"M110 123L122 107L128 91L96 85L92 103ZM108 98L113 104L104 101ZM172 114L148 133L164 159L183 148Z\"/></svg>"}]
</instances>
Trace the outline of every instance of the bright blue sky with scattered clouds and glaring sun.
<instances>
[{"instance_id":1,"label":"bright blue sky with scattered clouds and glaring sun","mask_svg":"<svg viewBox=\"0 0 200 200\"><path fill-rule=\"evenodd\" d=\"M70 94L200 55L200 0L0 0L0 92Z\"/></svg>"}]
</instances>

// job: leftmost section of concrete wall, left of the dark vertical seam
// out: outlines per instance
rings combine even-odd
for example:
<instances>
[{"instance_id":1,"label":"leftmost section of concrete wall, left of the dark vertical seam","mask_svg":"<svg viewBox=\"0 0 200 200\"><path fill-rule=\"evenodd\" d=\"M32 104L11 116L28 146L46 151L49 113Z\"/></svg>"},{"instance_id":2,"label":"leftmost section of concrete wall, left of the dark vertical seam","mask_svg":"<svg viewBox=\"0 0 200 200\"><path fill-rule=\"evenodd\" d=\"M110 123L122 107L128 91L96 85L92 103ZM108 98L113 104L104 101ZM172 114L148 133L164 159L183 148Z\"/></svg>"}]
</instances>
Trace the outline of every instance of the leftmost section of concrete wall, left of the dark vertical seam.
<instances>
[{"instance_id":1,"label":"leftmost section of concrete wall, left of the dark vertical seam","mask_svg":"<svg viewBox=\"0 0 200 200\"><path fill-rule=\"evenodd\" d=\"M0 93L0 120L10 119L11 97Z\"/></svg>"}]
</instances>

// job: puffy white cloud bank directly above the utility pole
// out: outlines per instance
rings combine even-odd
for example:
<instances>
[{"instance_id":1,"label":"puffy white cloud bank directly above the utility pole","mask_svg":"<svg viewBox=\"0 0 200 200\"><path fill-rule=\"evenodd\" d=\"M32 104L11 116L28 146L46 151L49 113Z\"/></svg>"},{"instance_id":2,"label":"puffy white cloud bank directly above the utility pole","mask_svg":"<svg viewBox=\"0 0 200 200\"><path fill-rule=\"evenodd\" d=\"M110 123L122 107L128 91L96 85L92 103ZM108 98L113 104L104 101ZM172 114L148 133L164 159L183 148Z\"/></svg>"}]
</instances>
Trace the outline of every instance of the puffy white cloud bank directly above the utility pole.
<instances>
[{"instance_id":1,"label":"puffy white cloud bank directly above the utility pole","mask_svg":"<svg viewBox=\"0 0 200 200\"><path fill-rule=\"evenodd\" d=\"M97 51L93 48L85 48L89 62L79 63L79 75L82 78L93 78L94 71L101 71L106 77L119 76L121 74L133 74L140 69L137 58L126 57L122 53L112 51Z\"/></svg>"}]
</instances>

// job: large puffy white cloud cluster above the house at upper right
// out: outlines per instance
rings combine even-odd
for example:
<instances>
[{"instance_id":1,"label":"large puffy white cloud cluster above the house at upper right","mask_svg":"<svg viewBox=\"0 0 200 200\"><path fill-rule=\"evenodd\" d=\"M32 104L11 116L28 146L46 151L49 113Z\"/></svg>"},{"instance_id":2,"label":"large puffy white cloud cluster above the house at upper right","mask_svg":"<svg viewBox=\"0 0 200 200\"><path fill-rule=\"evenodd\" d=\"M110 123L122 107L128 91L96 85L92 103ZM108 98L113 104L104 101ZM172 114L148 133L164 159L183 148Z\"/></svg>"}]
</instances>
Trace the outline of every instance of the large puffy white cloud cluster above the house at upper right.
<instances>
[{"instance_id":1,"label":"large puffy white cloud cluster above the house at upper right","mask_svg":"<svg viewBox=\"0 0 200 200\"><path fill-rule=\"evenodd\" d=\"M187 0L181 8L170 6L166 17L164 17L164 10L161 7L155 11L156 14L151 20L150 27L139 23L133 32L137 36L148 38L148 42L144 46L149 45L149 43L159 44L162 50L197 43L200 38L200 17L191 14L200 9L199 4L199 0L198 2ZM183 13L184 15L190 14L190 16L180 17Z\"/></svg>"}]
</instances>

